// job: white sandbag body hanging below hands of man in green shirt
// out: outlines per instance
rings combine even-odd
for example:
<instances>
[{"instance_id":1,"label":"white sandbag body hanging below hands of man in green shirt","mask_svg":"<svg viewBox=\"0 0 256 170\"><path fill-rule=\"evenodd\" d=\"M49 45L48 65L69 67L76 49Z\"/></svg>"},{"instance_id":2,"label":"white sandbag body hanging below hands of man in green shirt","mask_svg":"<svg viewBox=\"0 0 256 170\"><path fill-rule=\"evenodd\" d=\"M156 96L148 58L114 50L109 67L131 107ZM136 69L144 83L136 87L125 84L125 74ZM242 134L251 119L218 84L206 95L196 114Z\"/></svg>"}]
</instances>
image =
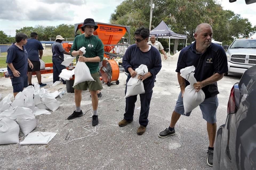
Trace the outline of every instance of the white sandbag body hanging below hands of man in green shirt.
<instances>
[{"instance_id":1,"label":"white sandbag body hanging below hands of man in green shirt","mask_svg":"<svg viewBox=\"0 0 256 170\"><path fill-rule=\"evenodd\" d=\"M75 66L74 73L75 73L74 86L77 85L78 83L82 83L86 81L95 81L91 77L90 69L88 68L85 62L77 61L77 65Z\"/></svg>"}]
</instances>

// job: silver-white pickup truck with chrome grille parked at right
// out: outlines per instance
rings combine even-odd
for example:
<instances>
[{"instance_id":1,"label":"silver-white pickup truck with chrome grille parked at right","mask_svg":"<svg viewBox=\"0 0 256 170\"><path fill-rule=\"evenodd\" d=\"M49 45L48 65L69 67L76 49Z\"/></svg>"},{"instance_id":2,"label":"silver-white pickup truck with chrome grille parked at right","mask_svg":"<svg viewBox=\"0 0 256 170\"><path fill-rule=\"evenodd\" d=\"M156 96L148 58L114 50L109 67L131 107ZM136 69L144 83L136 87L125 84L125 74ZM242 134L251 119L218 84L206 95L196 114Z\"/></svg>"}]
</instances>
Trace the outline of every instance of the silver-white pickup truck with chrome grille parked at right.
<instances>
[{"instance_id":1,"label":"silver-white pickup truck with chrome grille parked at right","mask_svg":"<svg viewBox=\"0 0 256 170\"><path fill-rule=\"evenodd\" d=\"M256 39L236 39L227 49L228 73L243 74L256 65ZM228 73L224 75L227 76Z\"/></svg>"}]
</instances>

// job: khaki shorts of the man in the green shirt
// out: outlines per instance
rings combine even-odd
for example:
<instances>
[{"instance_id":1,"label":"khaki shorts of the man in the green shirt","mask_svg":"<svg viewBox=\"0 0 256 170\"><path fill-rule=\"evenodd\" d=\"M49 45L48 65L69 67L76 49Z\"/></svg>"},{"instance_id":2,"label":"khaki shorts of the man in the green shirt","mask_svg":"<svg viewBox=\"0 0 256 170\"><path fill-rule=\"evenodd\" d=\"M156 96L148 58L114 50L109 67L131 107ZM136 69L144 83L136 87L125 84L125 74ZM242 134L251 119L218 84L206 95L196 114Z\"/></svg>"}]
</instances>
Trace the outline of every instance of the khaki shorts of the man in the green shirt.
<instances>
[{"instance_id":1,"label":"khaki shorts of the man in the green shirt","mask_svg":"<svg viewBox=\"0 0 256 170\"><path fill-rule=\"evenodd\" d=\"M95 81L78 83L73 88L77 90L87 90L87 88L89 88L90 91L101 90L103 87L101 85L101 80L99 79L99 72L91 74L91 77L93 77Z\"/></svg>"}]
</instances>

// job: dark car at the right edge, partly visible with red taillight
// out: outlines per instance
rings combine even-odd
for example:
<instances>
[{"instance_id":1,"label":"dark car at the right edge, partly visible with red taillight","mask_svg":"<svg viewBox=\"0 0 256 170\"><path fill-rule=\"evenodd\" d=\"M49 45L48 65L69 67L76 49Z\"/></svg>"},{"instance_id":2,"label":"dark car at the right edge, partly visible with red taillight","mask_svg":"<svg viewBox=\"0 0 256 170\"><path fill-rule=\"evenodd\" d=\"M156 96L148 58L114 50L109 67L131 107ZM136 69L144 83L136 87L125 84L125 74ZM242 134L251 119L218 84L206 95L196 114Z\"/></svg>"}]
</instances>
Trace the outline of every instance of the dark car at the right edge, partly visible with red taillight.
<instances>
[{"instance_id":1,"label":"dark car at the right edge, partly visible with red taillight","mask_svg":"<svg viewBox=\"0 0 256 170\"><path fill-rule=\"evenodd\" d=\"M217 131L213 169L256 170L256 65L232 87L227 114Z\"/></svg>"}]
</instances>

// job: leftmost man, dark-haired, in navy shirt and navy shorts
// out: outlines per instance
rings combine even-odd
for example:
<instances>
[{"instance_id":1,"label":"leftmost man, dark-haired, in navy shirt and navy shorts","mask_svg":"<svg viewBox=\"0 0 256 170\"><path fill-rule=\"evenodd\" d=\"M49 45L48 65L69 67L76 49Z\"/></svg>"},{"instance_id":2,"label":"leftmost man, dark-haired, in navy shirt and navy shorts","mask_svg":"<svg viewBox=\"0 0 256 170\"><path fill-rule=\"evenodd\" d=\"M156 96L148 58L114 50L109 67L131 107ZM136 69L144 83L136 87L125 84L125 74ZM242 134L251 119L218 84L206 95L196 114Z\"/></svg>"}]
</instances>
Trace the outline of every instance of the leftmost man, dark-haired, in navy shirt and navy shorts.
<instances>
[{"instance_id":1,"label":"leftmost man, dark-haired, in navy shirt and navy shorts","mask_svg":"<svg viewBox=\"0 0 256 170\"><path fill-rule=\"evenodd\" d=\"M15 36L16 43L12 44L7 50L7 70L11 78L14 98L18 92L21 92L23 88L28 86L27 63L33 69L33 64L28 59L28 54L24 46L27 43L27 38L26 34L17 33Z\"/></svg>"}]
</instances>

